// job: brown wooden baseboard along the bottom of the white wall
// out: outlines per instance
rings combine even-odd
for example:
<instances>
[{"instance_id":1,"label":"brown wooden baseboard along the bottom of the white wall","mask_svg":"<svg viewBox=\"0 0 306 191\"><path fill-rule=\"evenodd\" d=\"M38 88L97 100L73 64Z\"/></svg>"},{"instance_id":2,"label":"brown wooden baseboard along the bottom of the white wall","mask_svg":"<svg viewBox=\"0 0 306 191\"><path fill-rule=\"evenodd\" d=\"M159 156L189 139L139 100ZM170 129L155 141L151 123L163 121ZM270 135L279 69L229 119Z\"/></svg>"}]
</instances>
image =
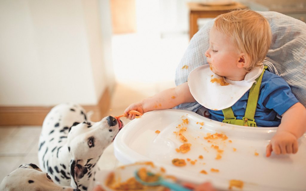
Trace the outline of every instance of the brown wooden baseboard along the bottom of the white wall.
<instances>
[{"instance_id":1,"label":"brown wooden baseboard along the bottom of the white wall","mask_svg":"<svg viewBox=\"0 0 306 191\"><path fill-rule=\"evenodd\" d=\"M54 106L0 107L0 125L42 125L43 120ZM93 111L91 121L99 121L110 108L110 91L105 89L97 105L82 105L88 112Z\"/></svg>"}]
</instances>

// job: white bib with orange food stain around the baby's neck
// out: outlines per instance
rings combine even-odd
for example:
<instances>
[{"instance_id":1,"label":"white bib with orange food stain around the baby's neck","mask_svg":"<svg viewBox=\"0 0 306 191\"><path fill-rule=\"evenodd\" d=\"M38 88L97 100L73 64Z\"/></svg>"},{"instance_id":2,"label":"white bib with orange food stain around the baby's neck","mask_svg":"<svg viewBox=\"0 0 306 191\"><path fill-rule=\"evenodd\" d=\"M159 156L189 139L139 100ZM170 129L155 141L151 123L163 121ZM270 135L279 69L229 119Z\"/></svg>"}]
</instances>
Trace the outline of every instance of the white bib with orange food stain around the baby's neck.
<instances>
[{"instance_id":1,"label":"white bib with orange food stain around the baby's neck","mask_svg":"<svg viewBox=\"0 0 306 191\"><path fill-rule=\"evenodd\" d=\"M262 72L263 65L254 67L245 75L244 80L232 81L213 73L206 64L190 72L188 86L194 99L202 106L210 110L223 110L234 105L252 87ZM222 86L218 81L228 85Z\"/></svg>"}]
</instances>

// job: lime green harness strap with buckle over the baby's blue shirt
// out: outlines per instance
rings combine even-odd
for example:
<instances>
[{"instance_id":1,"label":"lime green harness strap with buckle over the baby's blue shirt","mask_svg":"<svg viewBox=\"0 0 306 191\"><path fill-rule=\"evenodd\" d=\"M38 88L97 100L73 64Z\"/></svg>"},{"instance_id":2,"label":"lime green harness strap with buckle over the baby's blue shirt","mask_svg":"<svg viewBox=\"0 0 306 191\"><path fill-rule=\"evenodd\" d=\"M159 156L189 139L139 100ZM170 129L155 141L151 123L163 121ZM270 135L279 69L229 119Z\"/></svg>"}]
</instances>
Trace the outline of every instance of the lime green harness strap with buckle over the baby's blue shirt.
<instances>
[{"instance_id":1,"label":"lime green harness strap with buckle over the baby's blue shirt","mask_svg":"<svg viewBox=\"0 0 306 191\"><path fill-rule=\"evenodd\" d=\"M259 77L256 78L256 83L254 83L250 89L248 96L247 108L245 109L244 117L241 119L236 119L232 107L222 110L224 115L223 123L229 123L234 125L243 125L249 127L257 127L254 119L257 101L259 97L259 90L261 85L261 80L263 78L263 73L267 69L267 66L263 67L263 72Z\"/></svg>"}]
</instances>

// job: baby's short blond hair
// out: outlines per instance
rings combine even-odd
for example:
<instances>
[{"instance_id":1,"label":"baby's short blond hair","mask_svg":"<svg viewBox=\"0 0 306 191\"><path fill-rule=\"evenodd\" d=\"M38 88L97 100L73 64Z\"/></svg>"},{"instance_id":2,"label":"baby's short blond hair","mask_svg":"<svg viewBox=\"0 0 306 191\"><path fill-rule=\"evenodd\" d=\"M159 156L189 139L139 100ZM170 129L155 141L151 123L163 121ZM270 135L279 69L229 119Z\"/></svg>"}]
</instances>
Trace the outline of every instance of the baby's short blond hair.
<instances>
[{"instance_id":1,"label":"baby's short blond hair","mask_svg":"<svg viewBox=\"0 0 306 191\"><path fill-rule=\"evenodd\" d=\"M227 34L236 48L248 56L250 63L245 70L260 66L272 40L271 28L265 17L249 9L235 10L217 16L214 27Z\"/></svg>"}]
</instances>

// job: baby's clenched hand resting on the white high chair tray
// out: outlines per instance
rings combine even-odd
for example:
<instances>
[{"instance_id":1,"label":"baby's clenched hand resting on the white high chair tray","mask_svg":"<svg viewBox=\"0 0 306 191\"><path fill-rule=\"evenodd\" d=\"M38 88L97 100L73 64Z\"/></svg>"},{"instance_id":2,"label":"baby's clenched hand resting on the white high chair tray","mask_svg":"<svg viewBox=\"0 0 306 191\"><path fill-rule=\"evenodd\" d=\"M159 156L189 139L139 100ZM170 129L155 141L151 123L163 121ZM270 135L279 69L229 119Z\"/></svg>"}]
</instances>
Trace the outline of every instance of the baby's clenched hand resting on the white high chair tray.
<instances>
[{"instance_id":1,"label":"baby's clenched hand resting on the white high chair tray","mask_svg":"<svg viewBox=\"0 0 306 191\"><path fill-rule=\"evenodd\" d=\"M275 154L297 153L297 137L287 131L276 132L267 146L266 156L270 157L272 150Z\"/></svg>"}]
</instances>

